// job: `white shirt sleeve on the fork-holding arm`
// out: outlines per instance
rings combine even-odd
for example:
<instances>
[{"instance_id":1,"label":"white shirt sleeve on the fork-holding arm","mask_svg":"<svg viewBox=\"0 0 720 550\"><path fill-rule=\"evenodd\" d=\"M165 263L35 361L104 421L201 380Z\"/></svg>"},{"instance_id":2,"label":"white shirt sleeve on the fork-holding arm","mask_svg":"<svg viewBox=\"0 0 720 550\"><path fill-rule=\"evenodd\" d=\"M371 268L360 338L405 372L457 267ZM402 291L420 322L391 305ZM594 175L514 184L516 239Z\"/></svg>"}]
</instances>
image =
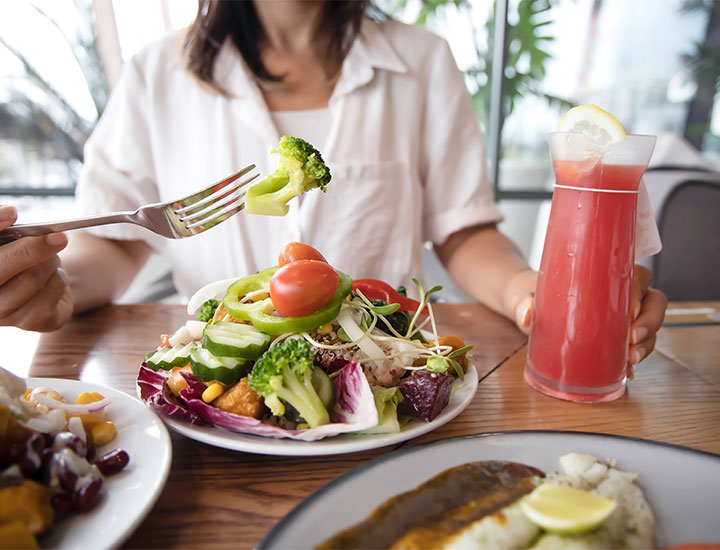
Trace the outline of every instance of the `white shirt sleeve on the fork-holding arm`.
<instances>
[{"instance_id":1,"label":"white shirt sleeve on the fork-holding arm","mask_svg":"<svg viewBox=\"0 0 720 550\"><path fill-rule=\"evenodd\" d=\"M85 144L75 193L80 215L133 211L159 201L153 165L148 86L133 58L123 67L108 104ZM163 238L132 224L99 226L89 232L110 239L146 241L162 250Z\"/></svg>"}]
</instances>

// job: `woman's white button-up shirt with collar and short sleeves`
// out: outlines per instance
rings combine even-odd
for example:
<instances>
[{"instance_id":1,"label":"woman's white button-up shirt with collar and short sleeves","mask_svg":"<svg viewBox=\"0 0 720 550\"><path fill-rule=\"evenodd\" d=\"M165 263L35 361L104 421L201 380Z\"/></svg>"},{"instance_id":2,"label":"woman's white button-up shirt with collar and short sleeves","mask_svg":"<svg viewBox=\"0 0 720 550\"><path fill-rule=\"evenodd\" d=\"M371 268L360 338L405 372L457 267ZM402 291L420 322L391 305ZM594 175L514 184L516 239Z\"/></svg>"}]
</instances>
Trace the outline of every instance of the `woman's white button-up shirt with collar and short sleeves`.
<instances>
[{"instance_id":1,"label":"woman's white button-up shirt with collar and short sleeves","mask_svg":"<svg viewBox=\"0 0 720 550\"><path fill-rule=\"evenodd\" d=\"M181 44L171 35L126 63L86 145L77 189L85 213L178 198L250 163L262 175L277 166L270 150L281 136L237 50L227 42L216 60L226 97L188 73ZM354 278L412 287L412 277L423 278L424 241L501 219L470 97L444 40L396 21L364 21L328 107L321 153L332 180L327 193L293 199L287 216L240 213L179 240L131 225L94 233L147 241L170 258L188 296L275 265L291 240Z\"/></svg>"}]
</instances>

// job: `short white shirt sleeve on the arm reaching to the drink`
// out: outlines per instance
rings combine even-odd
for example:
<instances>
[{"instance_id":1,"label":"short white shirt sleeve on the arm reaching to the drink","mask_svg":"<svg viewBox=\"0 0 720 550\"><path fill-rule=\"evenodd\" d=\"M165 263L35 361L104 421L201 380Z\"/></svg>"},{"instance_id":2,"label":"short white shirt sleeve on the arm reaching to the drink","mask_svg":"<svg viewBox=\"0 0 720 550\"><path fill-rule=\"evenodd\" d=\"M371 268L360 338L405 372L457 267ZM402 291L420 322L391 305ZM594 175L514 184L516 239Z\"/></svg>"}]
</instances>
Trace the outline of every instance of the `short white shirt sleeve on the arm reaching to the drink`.
<instances>
[{"instance_id":1,"label":"short white shirt sleeve on the arm reaching to the drink","mask_svg":"<svg viewBox=\"0 0 720 550\"><path fill-rule=\"evenodd\" d=\"M502 214L487 178L485 147L470 94L444 40L428 71L421 160L423 238L442 244L463 228L499 222Z\"/></svg>"}]
</instances>

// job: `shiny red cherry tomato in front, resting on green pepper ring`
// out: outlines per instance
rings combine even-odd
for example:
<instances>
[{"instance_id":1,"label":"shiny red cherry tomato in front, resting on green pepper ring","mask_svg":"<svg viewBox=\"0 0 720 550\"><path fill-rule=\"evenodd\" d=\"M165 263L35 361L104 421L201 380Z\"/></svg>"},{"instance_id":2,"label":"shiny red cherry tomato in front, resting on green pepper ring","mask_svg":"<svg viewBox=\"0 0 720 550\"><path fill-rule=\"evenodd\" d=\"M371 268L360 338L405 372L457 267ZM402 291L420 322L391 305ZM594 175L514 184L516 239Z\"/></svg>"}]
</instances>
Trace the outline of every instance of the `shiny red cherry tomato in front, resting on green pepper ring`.
<instances>
[{"instance_id":1,"label":"shiny red cherry tomato in front, resting on green pepper ring","mask_svg":"<svg viewBox=\"0 0 720 550\"><path fill-rule=\"evenodd\" d=\"M327 263L296 260L270 278L270 301L284 317L304 317L325 307L337 290L338 275Z\"/></svg>"}]
</instances>

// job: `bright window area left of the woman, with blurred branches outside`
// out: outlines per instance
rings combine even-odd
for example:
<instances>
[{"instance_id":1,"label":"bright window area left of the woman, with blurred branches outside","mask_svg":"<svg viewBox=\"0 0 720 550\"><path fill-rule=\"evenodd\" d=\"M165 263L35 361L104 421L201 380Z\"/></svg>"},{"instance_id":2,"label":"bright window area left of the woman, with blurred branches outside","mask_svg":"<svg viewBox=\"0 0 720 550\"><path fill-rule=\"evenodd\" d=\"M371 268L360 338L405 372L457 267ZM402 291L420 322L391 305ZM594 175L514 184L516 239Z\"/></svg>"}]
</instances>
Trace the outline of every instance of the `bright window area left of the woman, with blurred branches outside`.
<instances>
[{"instance_id":1,"label":"bright window area left of the woman, with blurred branches outside","mask_svg":"<svg viewBox=\"0 0 720 550\"><path fill-rule=\"evenodd\" d=\"M192 20L195 0L0 3L0 202L68 217L83 146L122 65Z\"/></svg>"}]
</instances>

